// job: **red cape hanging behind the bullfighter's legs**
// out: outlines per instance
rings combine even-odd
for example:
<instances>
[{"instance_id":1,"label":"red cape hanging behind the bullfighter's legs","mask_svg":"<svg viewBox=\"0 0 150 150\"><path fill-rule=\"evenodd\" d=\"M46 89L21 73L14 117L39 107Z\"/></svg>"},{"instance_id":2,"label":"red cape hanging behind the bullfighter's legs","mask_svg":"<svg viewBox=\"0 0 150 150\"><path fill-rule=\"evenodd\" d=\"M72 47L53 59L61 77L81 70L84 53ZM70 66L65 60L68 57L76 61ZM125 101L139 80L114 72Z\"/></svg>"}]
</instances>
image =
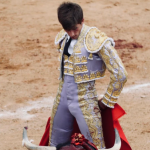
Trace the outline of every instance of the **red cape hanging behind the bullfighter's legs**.
<instances>
[{"instance_id":1,"label":"red cape hanging behind the bullfighter's legs","mask_svg":"<svg viewBox=\"0 0 150 150\"><path fill-rule=\"evenodd\" d=\"M102 111L101 113L102 126L106 148L113 147L115 141L114 128L116 128L121 138L120 150L132 150L118 121L118 119L122 117L124 114L125 111L118 104L115 105L114 109L106 108L105 110ZM49 130L50 130L50 118L48 118L44 135L39 144L40 146L48 146ZM76 121L74 122L74 129L72 134L74 133L80 133Z\"/></svg>"}]
</instances>

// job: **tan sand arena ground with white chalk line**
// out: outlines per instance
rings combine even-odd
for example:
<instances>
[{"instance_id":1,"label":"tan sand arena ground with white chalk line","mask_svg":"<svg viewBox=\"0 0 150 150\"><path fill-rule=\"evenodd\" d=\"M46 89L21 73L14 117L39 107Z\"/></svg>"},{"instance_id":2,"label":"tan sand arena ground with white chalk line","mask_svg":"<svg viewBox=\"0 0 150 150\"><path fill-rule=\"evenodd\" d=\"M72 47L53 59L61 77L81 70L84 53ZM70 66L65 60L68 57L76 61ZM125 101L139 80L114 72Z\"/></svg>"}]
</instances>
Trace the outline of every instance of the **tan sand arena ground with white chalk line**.
<instances>
[{"instance_id":1,"label":"tan sand arena ground with white chalk line","mask_svg":"<svg viewBox=\"0 0 150 150\"><path fill-rule=\"evenodd\" d=\"M133 150L150 149L150 0L72 0L85 23L116 41L128 71L118 103ZM23 150L22 131L38 144L58 88L54 38L61 0L0 0L0 150ZM109 73L96 82L104 94Z\"/></svg>"}]
</instances>

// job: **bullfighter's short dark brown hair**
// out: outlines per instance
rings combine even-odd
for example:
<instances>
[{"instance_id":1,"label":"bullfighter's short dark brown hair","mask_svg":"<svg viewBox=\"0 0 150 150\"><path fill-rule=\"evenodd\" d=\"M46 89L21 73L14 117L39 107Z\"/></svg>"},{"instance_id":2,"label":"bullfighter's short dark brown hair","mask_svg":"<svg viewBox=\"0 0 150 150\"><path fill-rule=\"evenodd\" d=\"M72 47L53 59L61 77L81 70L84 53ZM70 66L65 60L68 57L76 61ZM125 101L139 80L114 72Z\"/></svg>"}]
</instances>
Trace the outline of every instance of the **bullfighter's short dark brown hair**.
<instances>
[{"instance_id":1,"label":"bullfighter's short dark brown hair","mask_svg":"<svg viewBox=\"0 0 150 150\"><path fill-rule=\"evenodd\" d=\"M58 20L65 30L72 30L83 20L82 8L72 2L64 2L57 9Z\"/></svg>"}]
</instances>

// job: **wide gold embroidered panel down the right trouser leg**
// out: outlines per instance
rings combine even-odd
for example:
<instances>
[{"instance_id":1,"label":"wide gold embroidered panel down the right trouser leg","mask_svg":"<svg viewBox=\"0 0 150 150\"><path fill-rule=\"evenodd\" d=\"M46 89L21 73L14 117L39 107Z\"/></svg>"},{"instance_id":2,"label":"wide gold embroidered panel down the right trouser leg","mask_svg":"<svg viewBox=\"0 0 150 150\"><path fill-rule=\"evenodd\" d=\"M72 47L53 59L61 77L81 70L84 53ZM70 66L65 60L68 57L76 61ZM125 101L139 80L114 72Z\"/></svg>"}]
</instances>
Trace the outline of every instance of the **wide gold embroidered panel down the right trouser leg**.
<instances>
[{"instance_id":1,"label":"wide gold embroidered panel down the right trouser leg","mask_svg":"<svg viewBox=\"0 0 150 150\"><path fill-rule=\"evenodd\" d=\"M87 90L89 87L93 86L94 85L91 85L91 82L78 84L78 102L86 124L88 125L93 143L98 149L100 149L105 147L105 143L103 140L101 114L99 113L98 100L97 97L95 97L96 91L92 92L91 90Z\"/></svg>"}]
</instances>

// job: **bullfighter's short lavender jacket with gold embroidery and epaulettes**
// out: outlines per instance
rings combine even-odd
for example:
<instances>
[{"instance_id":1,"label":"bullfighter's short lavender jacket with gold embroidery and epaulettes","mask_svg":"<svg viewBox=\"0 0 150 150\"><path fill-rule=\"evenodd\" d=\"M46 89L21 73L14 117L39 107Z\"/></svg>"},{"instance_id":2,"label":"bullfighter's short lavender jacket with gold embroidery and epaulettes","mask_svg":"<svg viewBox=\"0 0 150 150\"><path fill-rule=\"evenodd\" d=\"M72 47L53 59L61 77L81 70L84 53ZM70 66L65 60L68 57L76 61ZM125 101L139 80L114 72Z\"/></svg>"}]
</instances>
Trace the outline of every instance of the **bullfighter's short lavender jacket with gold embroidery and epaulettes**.
<instances>
[{"instance_id":1,"label":"bullfighter's short lavender jacket with gold embroidery and epaulettes","mask_svg":"<svg viewBox=\"0 0 150 150\"><path fill-rule=\"evenodd\" d=\"M74 76L76 83L96 80L104 76L106 68L110 72L110 83L102 102L113 108L127 80L127 72L119 58L114 41L95 27L83 26L73 54L63 56L67 33L61 30L55 39L55 44L61 52L60 66L64 57L64 74ZM62 78L60 68L60 79Z\"/></svg>"}]
</instances>

